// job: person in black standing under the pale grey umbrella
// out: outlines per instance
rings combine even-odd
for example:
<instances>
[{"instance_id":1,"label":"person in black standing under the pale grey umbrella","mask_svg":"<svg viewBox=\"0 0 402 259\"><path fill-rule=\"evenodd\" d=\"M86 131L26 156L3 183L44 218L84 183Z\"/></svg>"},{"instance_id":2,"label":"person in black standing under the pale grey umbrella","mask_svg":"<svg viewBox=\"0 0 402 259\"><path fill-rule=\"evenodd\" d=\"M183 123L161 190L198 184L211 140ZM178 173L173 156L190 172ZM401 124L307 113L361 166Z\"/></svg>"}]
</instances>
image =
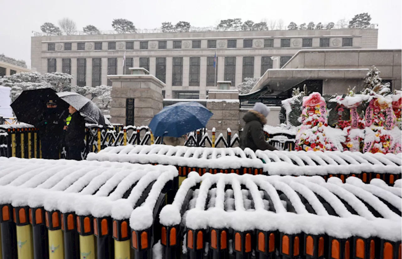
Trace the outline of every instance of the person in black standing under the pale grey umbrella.
<instances>
[{"instance_id":1,"label":"person in black standing under the pale grey umbrella","mask_svg":"<svg viewBox=\"0 0 402 259\"><path fill-rule=\"evenodd\" d=\"M65 127L67 159L82 160L81 152L85 148L85 119L71 105L68 107L68 112L71 114L71 120L67 128Z\"/></svg>"}]
</instances>

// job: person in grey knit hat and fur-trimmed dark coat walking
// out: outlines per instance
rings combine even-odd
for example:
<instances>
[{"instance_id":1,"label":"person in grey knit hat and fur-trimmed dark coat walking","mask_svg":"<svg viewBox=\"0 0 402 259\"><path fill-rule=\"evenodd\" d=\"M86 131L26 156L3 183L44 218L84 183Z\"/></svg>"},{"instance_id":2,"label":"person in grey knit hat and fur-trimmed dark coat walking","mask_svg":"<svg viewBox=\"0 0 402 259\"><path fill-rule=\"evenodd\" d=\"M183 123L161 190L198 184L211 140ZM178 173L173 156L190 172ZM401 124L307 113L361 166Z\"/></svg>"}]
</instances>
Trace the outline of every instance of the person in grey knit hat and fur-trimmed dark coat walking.
<instances>
[{"instance_id":1,"label":"person in grey knit hat and fur-trimmed dark coat walking","mask_svg":"<svg viewBox=\"0 0 402 259\"><path fill-rule=\"evenodd\" d=\"M267 124L267 116L270 112L268 106L261 102L254 104L252 110L244 115L243 120L246 122L242 135L240 137L240 147L246 147L256 151L260 150L277 150L273 145L265 141L263 126Z\"/></svg>"}]
</instances>

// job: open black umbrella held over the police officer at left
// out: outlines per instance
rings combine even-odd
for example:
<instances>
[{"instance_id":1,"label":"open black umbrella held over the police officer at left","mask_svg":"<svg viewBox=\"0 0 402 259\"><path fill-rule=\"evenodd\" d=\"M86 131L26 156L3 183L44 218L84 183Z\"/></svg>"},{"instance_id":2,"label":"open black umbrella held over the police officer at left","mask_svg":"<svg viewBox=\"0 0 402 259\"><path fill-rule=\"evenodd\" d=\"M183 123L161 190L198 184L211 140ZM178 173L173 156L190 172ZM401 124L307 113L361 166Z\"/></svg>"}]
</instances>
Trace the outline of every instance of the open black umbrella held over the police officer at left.
<instances>
[{"instance_id":1,"label":"open black umbrella held over the police officer at left","mask_svg":"<svg viewBox=\"0 0 402 259\"><path fill-rule=\"evenodd\" d=\"M46 104L49 100L57 103L57 112L68 115L68 104L60 99L56 91L51 88L25 90L11 104L15 116L19 122L25 122L31 125L36 125L42 120L45 114Z\"/></svg>"}]
</instances>

